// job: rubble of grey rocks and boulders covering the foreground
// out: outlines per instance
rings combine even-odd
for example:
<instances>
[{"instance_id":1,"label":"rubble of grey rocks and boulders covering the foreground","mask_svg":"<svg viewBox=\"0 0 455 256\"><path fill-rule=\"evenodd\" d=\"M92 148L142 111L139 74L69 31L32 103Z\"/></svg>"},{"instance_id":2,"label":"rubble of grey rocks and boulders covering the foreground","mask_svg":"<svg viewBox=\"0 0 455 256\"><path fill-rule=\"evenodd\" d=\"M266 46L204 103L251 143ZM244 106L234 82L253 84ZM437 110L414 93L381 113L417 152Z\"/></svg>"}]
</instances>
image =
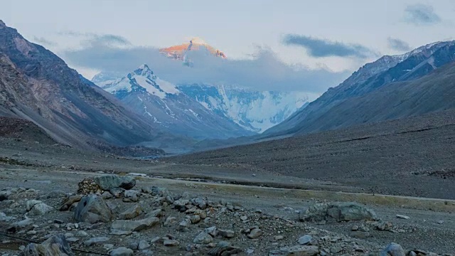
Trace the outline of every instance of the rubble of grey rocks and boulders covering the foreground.
<instances>
[{"instance_id":1,"label":"rubble of grey rocks and boulders covering the foreground","mask_svg":"<svg viewBox=\"0 0 455 256\"><path fill-rule=\"evenodd\" d=\"M291 220L158 186L137 188L132 176L85 178L74 192L2 189L1 255L437 255L366 242L370 230L412 230L358 203L316 203ZM352 223L350 237L307 225L341 222Z\"/></svg>"}]
</instances>

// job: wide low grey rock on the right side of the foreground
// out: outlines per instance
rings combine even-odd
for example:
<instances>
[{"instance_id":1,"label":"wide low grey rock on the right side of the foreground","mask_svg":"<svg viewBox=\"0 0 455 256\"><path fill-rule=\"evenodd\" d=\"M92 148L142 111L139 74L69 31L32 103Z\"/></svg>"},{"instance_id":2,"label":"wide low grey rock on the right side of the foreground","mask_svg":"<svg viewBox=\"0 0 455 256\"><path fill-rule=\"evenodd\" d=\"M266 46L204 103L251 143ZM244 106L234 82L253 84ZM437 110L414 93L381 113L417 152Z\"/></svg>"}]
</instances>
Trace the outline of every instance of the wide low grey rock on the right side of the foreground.
<instances>
[{"instance_id":1,"label":"wide low grey rock on the right side of the foreground","mask_svg":"<svg viewBox=\"0 0 455 256\"><path fill-rule=\"evenodd\" d=\"M316 203L299 213L301 221L341 222L349 220L376 220L373 210L355 203Z\"/></svg>"}]
</instances>

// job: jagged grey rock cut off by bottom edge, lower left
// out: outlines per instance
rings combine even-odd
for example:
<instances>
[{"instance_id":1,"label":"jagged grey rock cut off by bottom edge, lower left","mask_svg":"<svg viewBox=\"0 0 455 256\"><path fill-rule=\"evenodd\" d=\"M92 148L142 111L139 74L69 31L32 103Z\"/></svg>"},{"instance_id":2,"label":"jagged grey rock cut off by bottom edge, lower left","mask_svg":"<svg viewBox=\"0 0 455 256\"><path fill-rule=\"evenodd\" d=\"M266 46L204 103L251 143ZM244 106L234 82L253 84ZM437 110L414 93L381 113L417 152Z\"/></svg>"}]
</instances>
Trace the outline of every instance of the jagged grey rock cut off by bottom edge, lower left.
<instances>
[{"instance_id":1,"label":"jagged grey rock cut off by bottom edge, lower left","mask_svg":"<svg viewBox=\"0 0 455 256\"><path fill-rule=\"evenodd\" d=\"M19 256L74 256L75 254L68 245L64 235L54 235L45 240L41 245L29 244Z\"/></svg>"}]
</instances>

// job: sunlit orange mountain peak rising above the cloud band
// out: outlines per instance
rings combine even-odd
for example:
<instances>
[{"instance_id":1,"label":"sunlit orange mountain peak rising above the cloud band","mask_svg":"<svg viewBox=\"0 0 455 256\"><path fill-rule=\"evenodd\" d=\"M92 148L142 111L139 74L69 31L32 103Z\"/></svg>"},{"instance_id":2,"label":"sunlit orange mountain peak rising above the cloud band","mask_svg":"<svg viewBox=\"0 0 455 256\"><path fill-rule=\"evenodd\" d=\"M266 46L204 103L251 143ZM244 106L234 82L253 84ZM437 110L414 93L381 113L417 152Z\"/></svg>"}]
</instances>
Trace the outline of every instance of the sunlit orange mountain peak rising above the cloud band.
<instances>
[{"instance_id":1,"label":"sunlit orange mountain peak rising above the cloud band","mask_svg":"<svg viewBox=\"0 0 455 256\"><path fill-rule=\"evenodd\" d=\"M201 38L192 38L188 43L182 43L181 45L171 46L168 48L161 48L159 51L169 58L186 60L186 54L188 52L198 50L207 50L208 53L212 55L220 58L226 58L225 53L208 45L208 43L205 43L205 41Z\"/></svg>"}]
</instances>

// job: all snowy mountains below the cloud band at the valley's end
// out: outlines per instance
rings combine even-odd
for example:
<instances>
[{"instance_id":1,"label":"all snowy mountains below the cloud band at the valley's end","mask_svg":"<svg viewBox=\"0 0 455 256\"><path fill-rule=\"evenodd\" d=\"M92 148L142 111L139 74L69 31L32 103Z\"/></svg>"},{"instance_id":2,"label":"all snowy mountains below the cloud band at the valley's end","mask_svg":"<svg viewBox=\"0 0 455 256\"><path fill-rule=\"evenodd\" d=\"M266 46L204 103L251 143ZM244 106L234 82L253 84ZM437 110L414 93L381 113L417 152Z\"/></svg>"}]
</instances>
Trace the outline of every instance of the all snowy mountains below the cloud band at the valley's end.
<instances>
[{"instance_id":1,"label":"all snowy mountains below the cloud band at the valley's end","mask_svg":"<svg viewBox=\"0 0 455 256\"><path fill-rule=\"evenodd\" d=\"M279 124L308 104L304 92L256 91L224 85L173 85L148 65L114 79L92 80L149 122L195 139L251 136Z\"/></svg>"}]
</instances>

